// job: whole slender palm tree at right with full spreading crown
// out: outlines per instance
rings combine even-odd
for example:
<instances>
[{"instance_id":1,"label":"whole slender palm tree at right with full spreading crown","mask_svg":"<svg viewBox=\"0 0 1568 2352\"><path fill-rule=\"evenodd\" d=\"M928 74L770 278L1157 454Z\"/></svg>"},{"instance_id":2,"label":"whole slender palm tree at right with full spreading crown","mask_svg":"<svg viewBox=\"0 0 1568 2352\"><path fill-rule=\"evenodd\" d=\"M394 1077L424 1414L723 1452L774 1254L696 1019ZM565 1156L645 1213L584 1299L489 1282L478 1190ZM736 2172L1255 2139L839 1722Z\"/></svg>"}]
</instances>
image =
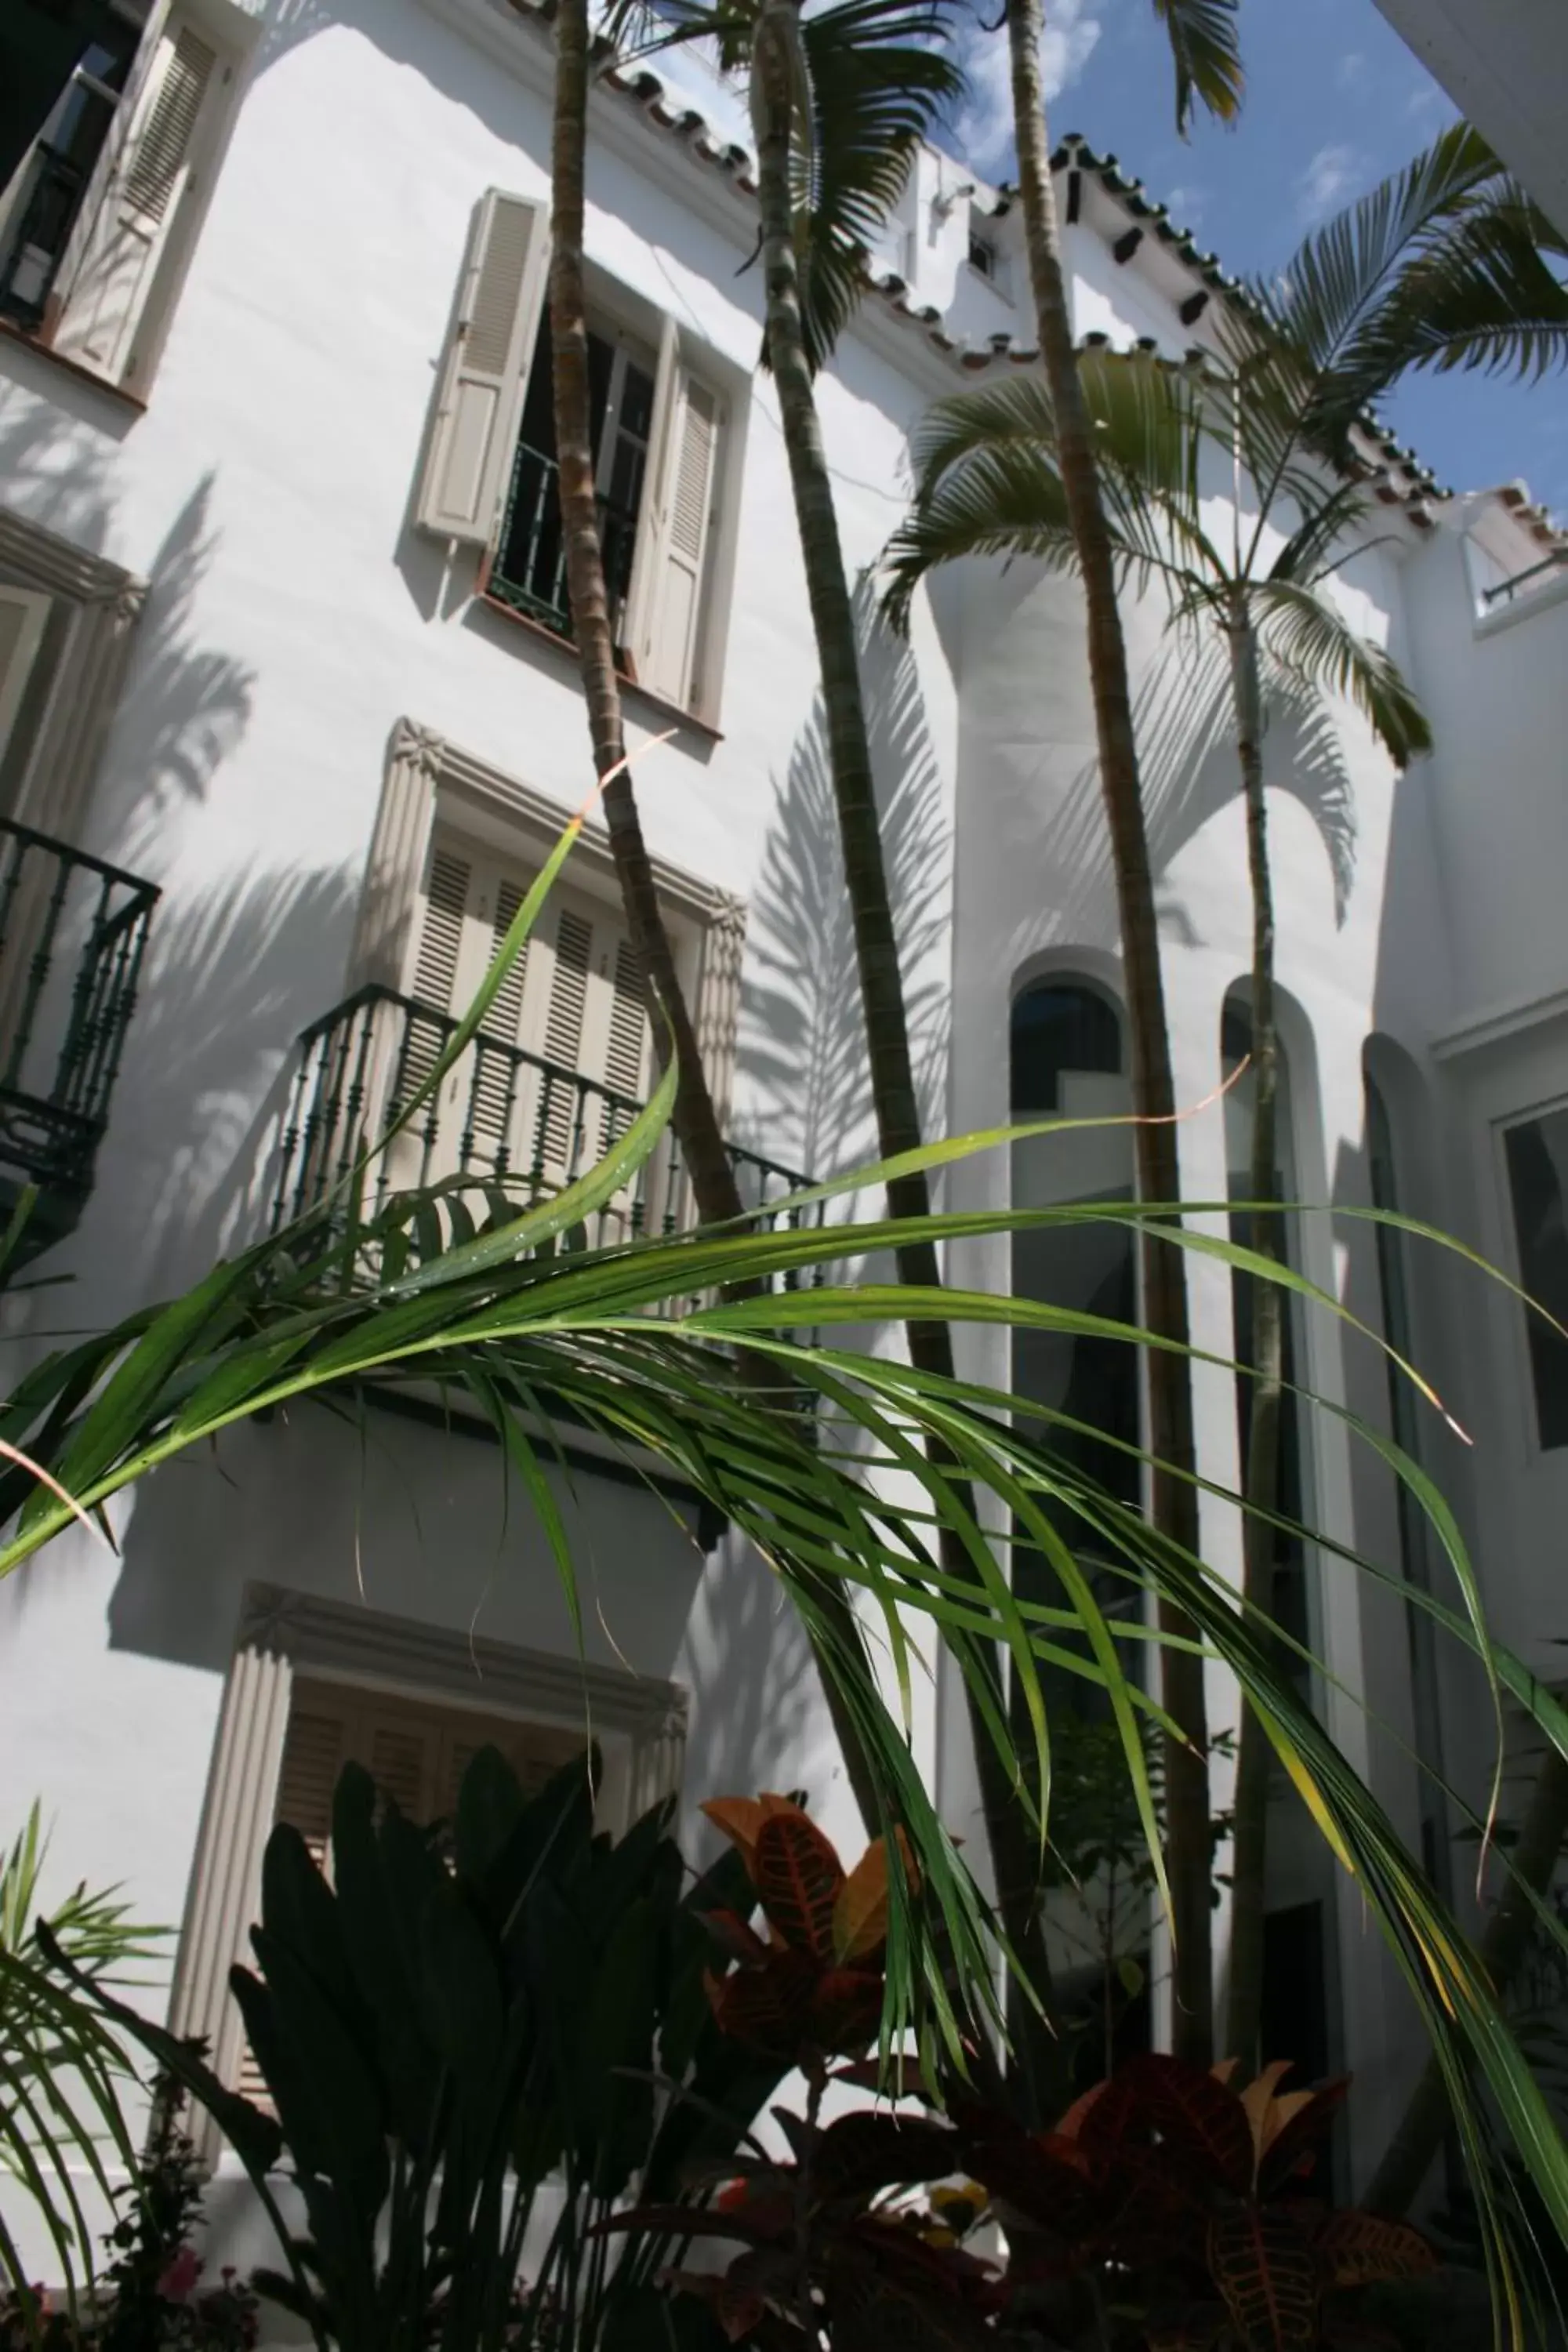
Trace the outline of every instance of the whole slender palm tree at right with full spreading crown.
<instances>
[{"instance_id":1,"label":"whole slender palm tree at right with full spreading crown","mask_svg":"<svg viewBox=\"0 0 1568 2352\"><path fill-rule=\"evenodd\" d=\"M1173 621L1225 652L1253 889L1251 1061L1253 1249L1279 1256L1274 891L1267 847L1269 708L1349 696L1394 757L1429 748L1427 722L1387 652L1359 635L1331 581L1375 513L1354 463L1368 388L1406 365L1549 365L1568 358L1568 294L1540 259L1519 193L1458 127L1406 174L1309 238L1274 287L1251 289L1222 329L1218 365L1175 369L1150 355L1088 353L1074 367L1095 419L1100 534L1117 581L1159 579ZM1443 318L1446 339L1432 336ZM1009 379L938 405L917 449L917 506L891 546L896 621L933 562L1027 553L1081 569L1053 390ZM1204 454L1237 480L1229 546L1199 503ZM1352 461L1349 477L1333 459ZM1244 524L1241 485L1253 513ZM1152 1308L1145 1310L1154 1324ZM1279 1503L1284 1301L1253 1289L1244 1494L1248 1609L1272 1616ZM1227 2049L1258 2056L1269 1748L1244 1712L1234 1797ZM1180 1922L1178 1922L1180 1924Z\"/></svg>"}]
</instances>

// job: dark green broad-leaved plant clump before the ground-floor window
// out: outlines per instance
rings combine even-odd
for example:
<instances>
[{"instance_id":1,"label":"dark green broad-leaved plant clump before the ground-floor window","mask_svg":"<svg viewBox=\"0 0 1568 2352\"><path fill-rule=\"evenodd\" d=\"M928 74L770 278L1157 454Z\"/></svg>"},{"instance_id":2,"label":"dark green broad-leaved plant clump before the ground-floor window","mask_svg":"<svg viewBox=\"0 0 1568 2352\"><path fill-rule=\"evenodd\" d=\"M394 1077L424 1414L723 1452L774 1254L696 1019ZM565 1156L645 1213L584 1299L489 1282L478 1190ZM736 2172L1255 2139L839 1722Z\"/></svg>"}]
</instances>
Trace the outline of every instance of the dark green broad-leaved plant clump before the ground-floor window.
<instances>
[{"instance_id":1,"label":"dark green broad-leaved plant clump before the ground-floor window","mask_svg":"<svg viewBox=\"0 0 1568 2352\"><path fill-rule=\"evenodd\" d=\"M677 2206L686 2169L731 2157L780 2072L726 2042L701 1999L701 1922L743 1872L726 1858L684 1886L665 1818L611 1844L592 1830L585 1759L524 1799L482 1750L447 1860L350 1764L331 1884L280 1825L256 1969L233 1971L270 2112L96 1997L244 2161L287 2265L256 2286L317 2345L480 2352L548 2336L562 2312L571 2340L635 2333L661 2246L607 2263L590 2225L632 2176ZM303 2227L268 2178L284 2157Z\"/></svg>"}]
</instances>

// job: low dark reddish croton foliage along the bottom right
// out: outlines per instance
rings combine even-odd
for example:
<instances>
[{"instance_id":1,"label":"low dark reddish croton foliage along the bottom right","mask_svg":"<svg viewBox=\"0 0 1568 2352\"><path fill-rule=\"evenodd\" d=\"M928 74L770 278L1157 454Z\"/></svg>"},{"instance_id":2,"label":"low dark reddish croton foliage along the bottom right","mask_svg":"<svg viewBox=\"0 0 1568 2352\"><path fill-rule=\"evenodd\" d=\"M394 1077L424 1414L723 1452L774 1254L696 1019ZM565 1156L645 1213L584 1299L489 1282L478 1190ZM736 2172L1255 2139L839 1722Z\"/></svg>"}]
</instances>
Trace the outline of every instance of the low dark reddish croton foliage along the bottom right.
<instances>
[{"instance_id":1,"label":"low dark reddish croton foliage along the bottom right","mask_svg":"<svg viewBox=\"0 0 1568 2352\"><path fill-rule=\"evenodd\" d=\"M712 2002L724 2018L724 1985ZM795 2056L806 2105L776 2110L788 2154L738 2154L684 2223L693 2241L741 2251L670 2279L731 2343L1349 2352L1368 2343L1366 2288L1434 2270L1418 2230L1331 2209L1309 2178L1342 2082L1284 2093L1288 2065L1272 2065L1237 2093L1222 2067L1143 2056L1053 2131L1025 2131L971 2082L950 2086L950 2117L875 2110L823 2124L830 2084L877 2077L830 2067L809 2030ZM639 2204L597 2230L668 2220Z\"/></svg>"}]
</instances>

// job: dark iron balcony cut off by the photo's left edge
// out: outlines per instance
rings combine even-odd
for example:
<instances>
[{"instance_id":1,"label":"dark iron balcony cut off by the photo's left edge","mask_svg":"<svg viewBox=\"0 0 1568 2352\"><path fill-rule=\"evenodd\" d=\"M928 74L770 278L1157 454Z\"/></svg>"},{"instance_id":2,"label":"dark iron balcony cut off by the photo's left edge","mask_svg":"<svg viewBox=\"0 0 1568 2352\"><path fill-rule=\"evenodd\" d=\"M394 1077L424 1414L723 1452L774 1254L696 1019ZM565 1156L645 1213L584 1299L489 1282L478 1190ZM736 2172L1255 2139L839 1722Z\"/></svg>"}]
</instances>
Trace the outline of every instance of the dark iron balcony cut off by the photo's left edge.
<instances>
[{"instance_id":1,"label":"dark iron balcony cut off by the photo's left edge","mask_svg":"<svg viewBox=\"0 0 1568 2352\"><path fill-rule=\"evenodd\" d=\"M158 903L153 882L0 818L0 1207L26 1249L82 1214Z\"/></svg>"}]
</instances>

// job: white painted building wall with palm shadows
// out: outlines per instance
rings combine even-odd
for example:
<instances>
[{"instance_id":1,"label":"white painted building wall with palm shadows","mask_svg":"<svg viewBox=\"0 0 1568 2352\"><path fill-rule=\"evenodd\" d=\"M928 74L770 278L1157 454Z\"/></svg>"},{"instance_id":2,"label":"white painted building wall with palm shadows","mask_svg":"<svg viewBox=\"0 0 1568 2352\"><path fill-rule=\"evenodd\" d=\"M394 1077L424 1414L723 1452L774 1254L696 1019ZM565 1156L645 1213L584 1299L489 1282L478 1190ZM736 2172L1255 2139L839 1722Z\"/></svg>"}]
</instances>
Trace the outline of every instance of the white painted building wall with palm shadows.
<instances>
[{"instance_id":1,"label":"white painted building wall with palm shadows","mask_svg":"<svg viewBox=\"0 0 1568 2352\"><path fill-rule=\"evenodd\" d=\"M487 186L545 193L548 54L515 33L522 73L418 0L334 0L313 16L273 7L146 416L16 343L0 350L7 503L153 583L87 847L155 877L165 901L99 1190L66 1261L80 1319L179 1289L249 1230L252 1167L289 1042L341 995L395 720L451 736L562 807L583 795L571 659L475 607L473 562L447 564L409 527L473 205ZM933 195L952 202L933 212ZM1032 341L1027 306L966 263L971 202L992 200L980 183L971 195L950 158L922 158L903 221L910 301L940 303L959 341ZM1175 315L1185 280L1152 240L1117 266L1105 245L1117 219L1091 188L1070 238L1079 327L1178 353L1192 341ZM994 219L999 247L1011 249L1013 230L1011 216ZM762 289L743 268L748 209L614 96L595 111L588 242L602 268L752 376ZM1009 292L1023 296L1016 270ZM886 306L867 308L823 376L851 569L875 562L898 520L912 421L957 381L961 367ZM1436 757L1396 781L1345 715L1340 804L1291 743L1269 746L1295 1167L1321 1207L1305 1223L1305 1268L1373 1322L1368 1230L1328 1214L1368 1197L1368 1035L1410 1073L1408 1101L1394 1105L1413 1162L1408 1204L1505 1249L1479 1143L1493 1096L1472 1101L1469 1063L1439 1063L1436 1047L1497 1004L1568 988L1556 920L1568 604L1542 597L1476 630L1458 536L1446 529L1422 548L1394 532L1356 557L1345 593L1410 661ZM1159 621L1154 604L1128 616L1147 741L1157 720L1194 706ZM997 1127L1020 978L1074 969L1114 988L1119 974L1077 590L1027 567L954 574L922 609L914 663L879 649L867 684L931 1120ZM813 696L778 414L755 376L722 739L682 729L639 764L637 790L658 854L750 901L736 1129L827 1171L872 1138ZM637 699L628 717L637 741L665 724ZM1175 1084L1192 1112L1182 1176L1190 1197L1215 1202L1222 1115L1197 1105L1218 1084L1220 1004L1251 955L1246 856L1222 743L1204 748L1180 727L1161 743L1147 793ZM1544 1058L1528 1084L1568 1091L1559 1033L1530 1037ZM1455 1174L1436 1176L1439 1162ZM992 1152L954 1171L950 1197L994 1204L1006 1188L1006 1160ZM1006 1244L954 1251L954 1272L1004 1289ZM1443 1390L1479 1406L1479 1425L1488 1397L1507 1421L1512 1310L1497 1305L1481 1348L1483 1319L1450 1287L1432 1294L1418 1301L1418 1343ZM1229 1355L1229 1287L1215 1265L1192 1272L1192 1322L1199 1348ZM966 1334L964 1362L1006 1383L1006 1338ZM1307 1378L1387 1421L1378 1357L1328 1312L1309 1319ZM1204 1470L1229 1482L1229 1374L1199 1367L1197 1406ZM1493 1461L1507 1451L1488 1456L1460 1501L1514 1625L1530 1609L1540 1536L1563 1524L1561 1465L1512 1463L1493 1477ZM1387 1475L1331 1425L1312 1468L1321 1524L1394 1557ZM625 1489L583 1484L574 1510L602 1604L592 1653L693 1689L689 1799L804 1783L853 1846L820 1696L771 1578L729 1550L703 1562ZM364 1456L310 1423L244 1432L216 1468L165 1472L125 1508L120 1534L122 1564L61 1538L0 1595L0 1773L21 1792L40 1785L59 1811L61 1879L127 1877L158 1917L183 1905L244 1576L339 1597L364 1578L371 1606L442 1625L465 1625L477 1606L491 1635L567 1646L543 1545L520 1512L501 1534L494 1454L378 1418ZM1206 1503L1204 1541L1234 1576L1234 1512ZM1396 1745L1410 1719L1401 1611L1326 1562L1321 1590L1328 1663L1392 1733L1338 1696L1331 1724L1410 1830L1415 1785ZM1222 1722L1232 1700L1218 1675L1211 1703ZM1450 1712L1465 1715L1462 1686ZM940 1675L919 1698L917 1752L952 1828L973 1835L961 1705ZM1314 1872L1316 1856L1281 1844L1281 1893L1321 1884ZM1354 1903L1338 1915L1338 1973L1373 2145L1410 2042Z\"/></svg>"}]
</instances>

